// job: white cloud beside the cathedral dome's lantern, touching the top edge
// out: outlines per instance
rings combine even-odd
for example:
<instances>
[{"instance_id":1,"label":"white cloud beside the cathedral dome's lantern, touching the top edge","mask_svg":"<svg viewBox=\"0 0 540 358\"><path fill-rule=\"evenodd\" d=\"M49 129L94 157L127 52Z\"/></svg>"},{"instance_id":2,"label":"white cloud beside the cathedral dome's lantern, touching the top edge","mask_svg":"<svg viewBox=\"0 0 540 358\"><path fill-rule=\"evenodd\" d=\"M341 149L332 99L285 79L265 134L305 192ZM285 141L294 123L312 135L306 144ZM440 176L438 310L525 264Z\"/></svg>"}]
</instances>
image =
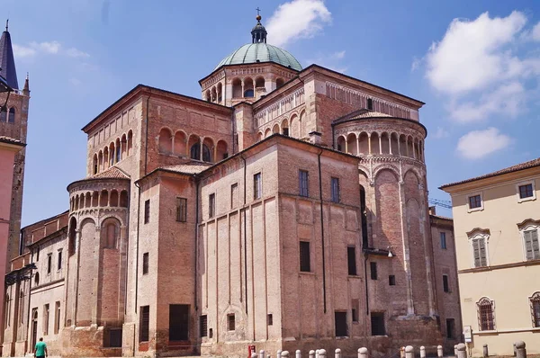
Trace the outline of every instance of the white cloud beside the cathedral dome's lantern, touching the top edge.
<instances>
[{"instance_id":1,"label":"white cloud beside the cathedral dome's lantern, touching the top edge","mask_svg":"<svg viewBox=\"0 0 540 358\"><path fill-rule=\"evenodd\" d=\"M268 42L284 46L293 40L311 38L331 21L332 14L324 1L292 0L279 5L268 19Z\"/></svg>"}]
</instances>

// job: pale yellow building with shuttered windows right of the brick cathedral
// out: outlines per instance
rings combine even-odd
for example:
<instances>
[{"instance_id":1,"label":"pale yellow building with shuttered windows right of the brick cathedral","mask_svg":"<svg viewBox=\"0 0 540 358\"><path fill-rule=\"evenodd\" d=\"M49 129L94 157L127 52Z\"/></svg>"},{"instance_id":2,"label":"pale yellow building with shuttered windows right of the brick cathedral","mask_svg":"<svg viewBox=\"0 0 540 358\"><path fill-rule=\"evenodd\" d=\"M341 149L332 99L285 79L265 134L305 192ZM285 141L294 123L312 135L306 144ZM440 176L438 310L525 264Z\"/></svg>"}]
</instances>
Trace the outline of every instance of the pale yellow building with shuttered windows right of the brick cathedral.
<instances>
[{"instance_id":1,"label":"pale yellow building with shuttered windows right of the brick cathedral","mask_svg":"<svg viewBox=\"0 0 540 358\"><path fill-rule=\"evenodd\" d=\"M540 354L540 158L440 189L452 196L462 318L473 356ZM538 200L537 200L538 198Z\"/></svg>"}]
</instances>

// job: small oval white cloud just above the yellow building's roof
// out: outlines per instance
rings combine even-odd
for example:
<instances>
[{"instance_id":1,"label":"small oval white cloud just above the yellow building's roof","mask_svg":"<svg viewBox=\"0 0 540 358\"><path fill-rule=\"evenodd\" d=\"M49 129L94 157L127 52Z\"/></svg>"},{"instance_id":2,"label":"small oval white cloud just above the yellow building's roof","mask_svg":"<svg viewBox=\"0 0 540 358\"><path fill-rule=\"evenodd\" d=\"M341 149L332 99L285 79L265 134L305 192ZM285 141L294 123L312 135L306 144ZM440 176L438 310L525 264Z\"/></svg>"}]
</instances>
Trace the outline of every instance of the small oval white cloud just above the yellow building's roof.
<instances>
[{"instance_id":1,"label":"small oval white cloud just above the yellow building's roof","mask_svg":"<svg viewBox=\"0 0 540 358\"><path fill-rule=\"evenodd\" d=\"M511 141L509 136L501 134L493 127L487 130L473 130L458 140L457 152L466 159L480 159L507 148Z\"/></svg>"}]
</instances>

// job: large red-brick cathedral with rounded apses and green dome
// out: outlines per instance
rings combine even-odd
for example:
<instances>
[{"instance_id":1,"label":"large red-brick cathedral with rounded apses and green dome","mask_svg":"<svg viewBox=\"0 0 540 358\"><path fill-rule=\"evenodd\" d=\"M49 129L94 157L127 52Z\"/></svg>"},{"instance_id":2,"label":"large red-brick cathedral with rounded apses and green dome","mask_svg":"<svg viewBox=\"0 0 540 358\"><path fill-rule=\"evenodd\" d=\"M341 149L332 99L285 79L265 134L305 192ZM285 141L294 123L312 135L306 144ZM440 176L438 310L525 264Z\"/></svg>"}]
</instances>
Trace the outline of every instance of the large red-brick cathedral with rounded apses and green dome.
<instances>
[{"instance_id":1,"label":"large red-brick cathedral with rounded apses and green dome","mask_svg":"<svg viewBox=\"0 0 540 358\"><path fill-rule=\"evenodd\" d=\"M257 16L202 99L137 85L89 121L67 210L20 237L14 192L3 356L41 336L67 357L453 351L453 224L428 207L424 103L302 67L271 35ZM14 62L7 29L1 45ZM0 134L25 142L29 98L27 80Z\"/></svg>"}]
</instances>

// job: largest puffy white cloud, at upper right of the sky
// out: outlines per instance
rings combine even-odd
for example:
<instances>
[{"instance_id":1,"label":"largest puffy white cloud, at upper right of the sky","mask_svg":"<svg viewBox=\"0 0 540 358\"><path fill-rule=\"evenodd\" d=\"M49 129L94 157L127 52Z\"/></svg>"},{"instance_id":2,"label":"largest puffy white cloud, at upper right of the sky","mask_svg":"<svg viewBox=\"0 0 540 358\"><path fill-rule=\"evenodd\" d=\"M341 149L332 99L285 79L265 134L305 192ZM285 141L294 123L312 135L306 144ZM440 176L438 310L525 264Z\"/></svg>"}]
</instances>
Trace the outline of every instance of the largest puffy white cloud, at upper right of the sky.
<instances>
[{"instance_id":1,"label":"largest puffy white cloud, at upper right of the sky","mask_svg":"<svg viewBox=\"0 0 540 358\"><path fill-rule=\"evenodd\" d=\"M455 19L443 39L431 45L425 58L426 77L437 91L448 95L451 119L516 117L526 110L530 97L526 83L540 75L538 54L523 55L518 49L529 32L524 30L526 24L524 13L491 18L486 12L473 21ZM530 32L540 40L540 24ZM415 59L412 69L418 66Z\"/></svg>"}]
</instances>

